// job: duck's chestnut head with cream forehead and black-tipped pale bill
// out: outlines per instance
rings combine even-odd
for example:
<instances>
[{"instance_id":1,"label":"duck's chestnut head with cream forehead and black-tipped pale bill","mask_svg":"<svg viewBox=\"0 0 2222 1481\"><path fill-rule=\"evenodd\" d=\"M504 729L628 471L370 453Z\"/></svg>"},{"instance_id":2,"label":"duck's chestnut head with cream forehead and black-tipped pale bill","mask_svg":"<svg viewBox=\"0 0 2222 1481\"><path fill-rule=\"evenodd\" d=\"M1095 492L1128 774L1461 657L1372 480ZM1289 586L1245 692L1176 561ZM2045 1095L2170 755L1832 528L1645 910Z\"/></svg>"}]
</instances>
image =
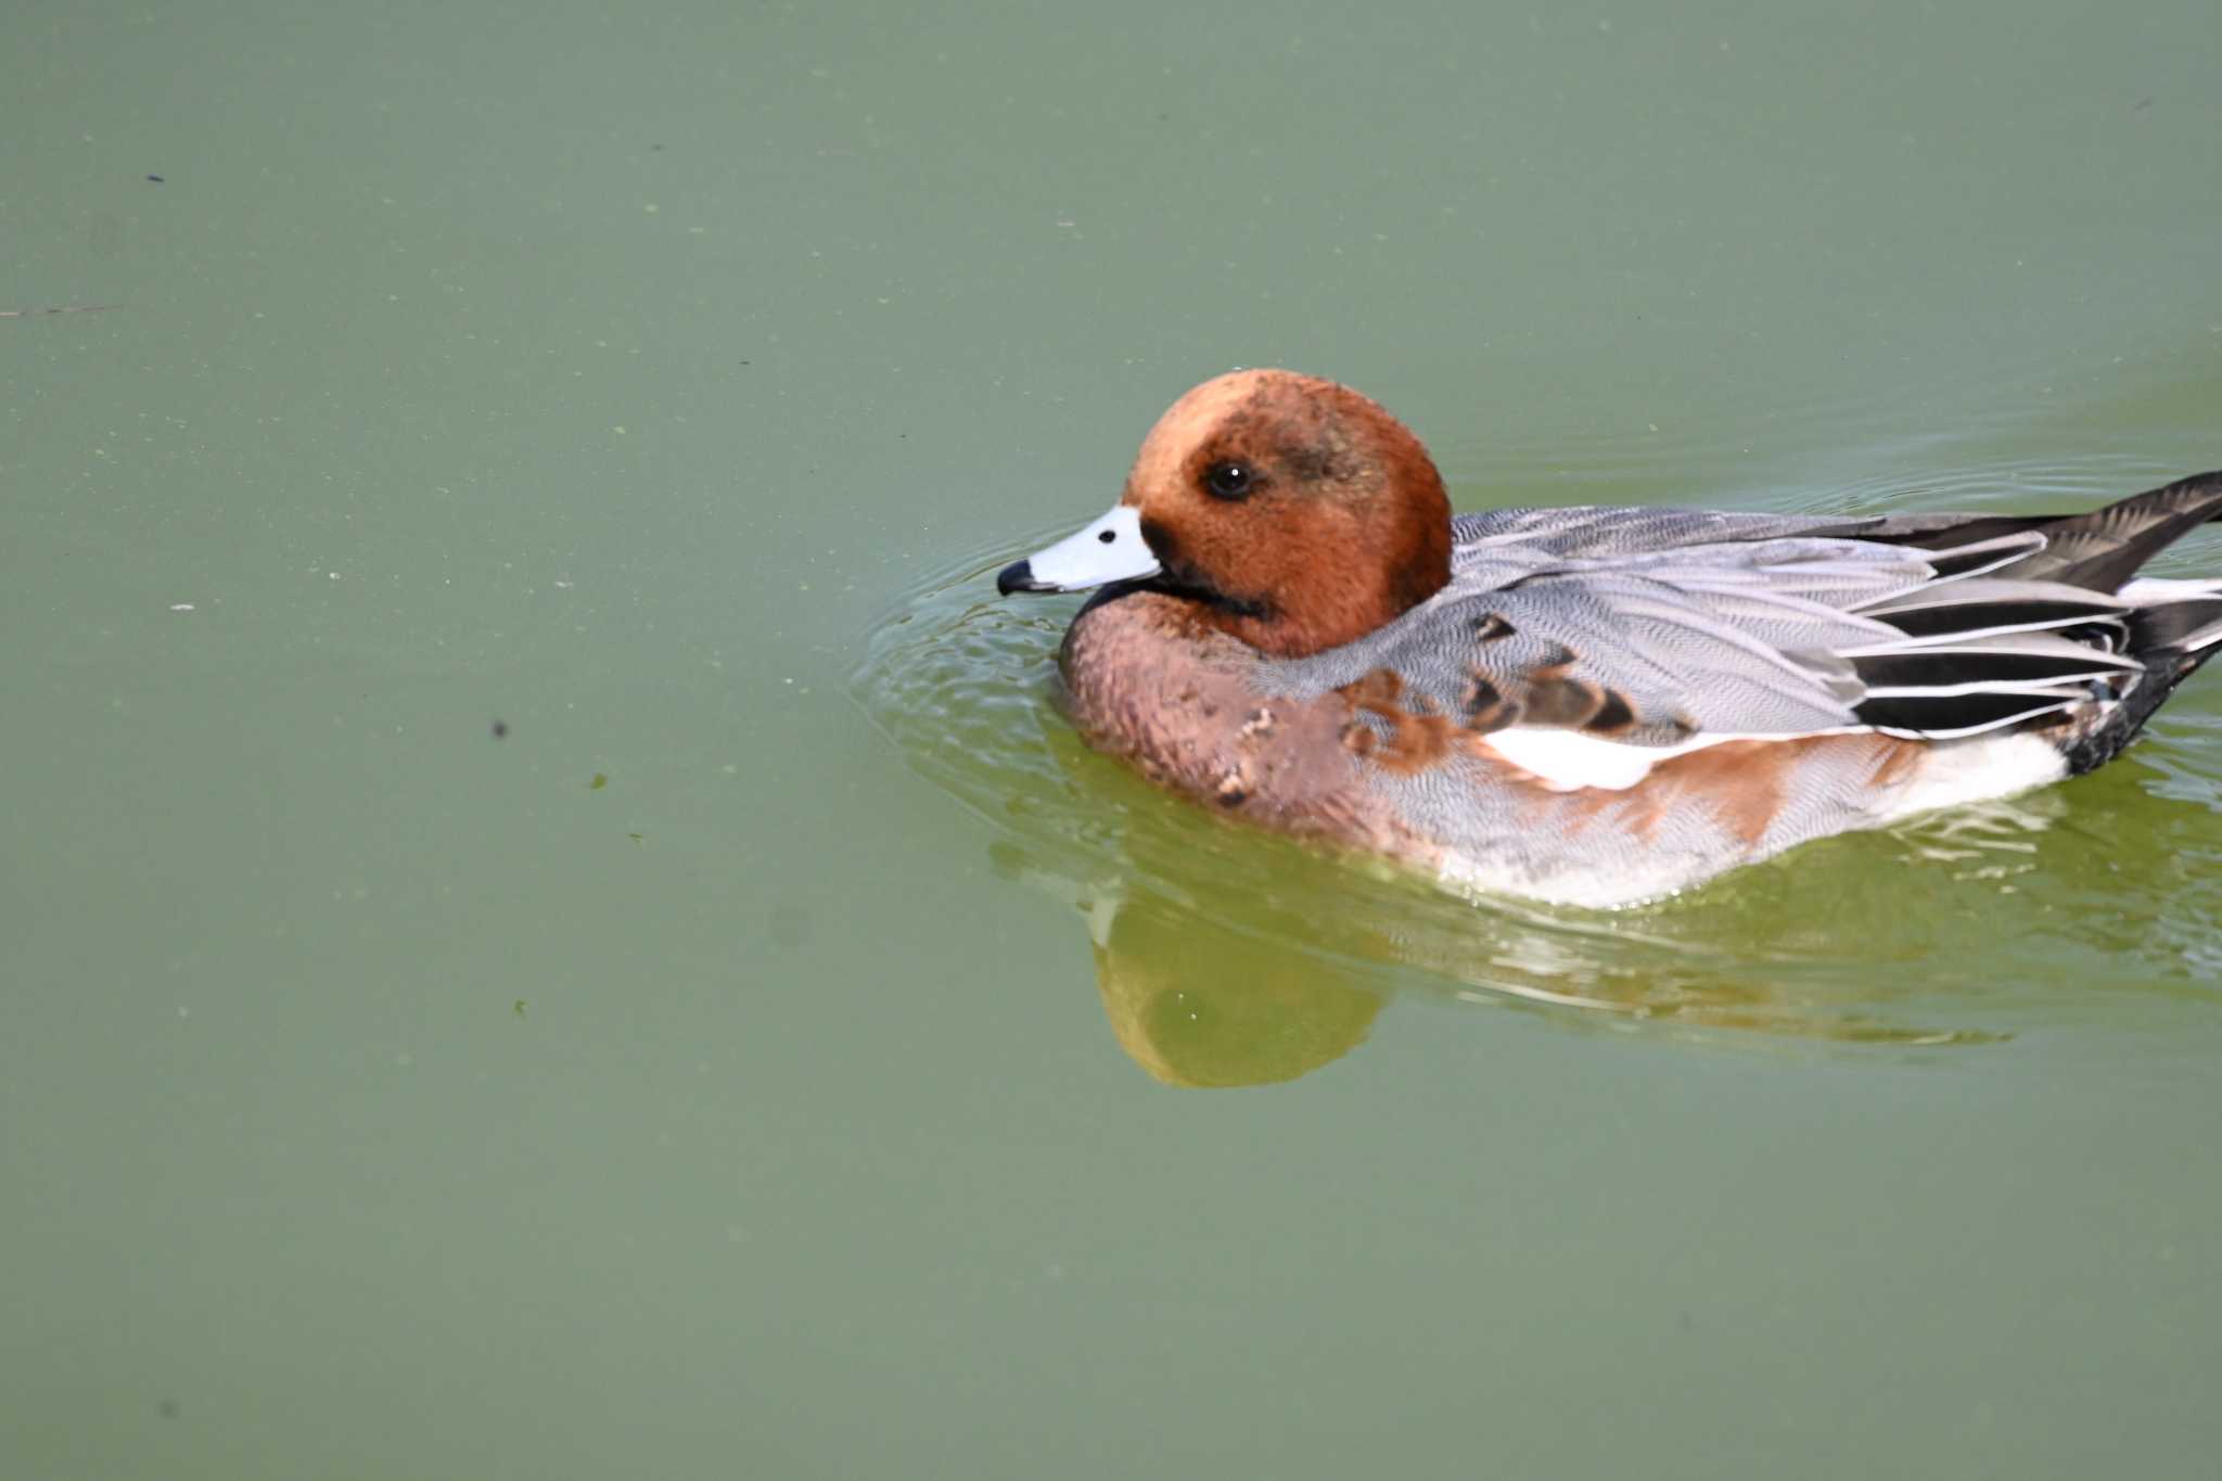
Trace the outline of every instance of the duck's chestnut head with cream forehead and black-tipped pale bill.
<instances>
[{"instance_id":1,"label":"duck's chestnut head with cream forehead and black-tipped pale bill","mask_svg":"<svg viewBox=\"0 0 2222 1481\"><path fill-rule=\"evenodd\" d=\"M1158 417L1104 517L995 577L1193 602L1260 653L1335 648L1451 580L1451 502L1380 404L1293 371L1207 380Z\"/></svg>"}]
</instances>

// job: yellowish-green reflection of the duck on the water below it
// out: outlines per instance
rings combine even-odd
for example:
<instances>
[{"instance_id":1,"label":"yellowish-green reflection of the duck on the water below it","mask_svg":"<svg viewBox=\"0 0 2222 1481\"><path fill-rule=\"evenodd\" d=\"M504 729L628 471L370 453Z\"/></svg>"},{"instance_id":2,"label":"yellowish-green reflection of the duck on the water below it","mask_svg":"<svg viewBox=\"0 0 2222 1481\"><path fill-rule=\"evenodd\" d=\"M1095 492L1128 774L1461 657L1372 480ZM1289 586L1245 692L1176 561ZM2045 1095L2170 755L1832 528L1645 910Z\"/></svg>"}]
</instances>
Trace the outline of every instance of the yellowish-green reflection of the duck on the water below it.
<instances>
[{"instance_id":1,"label":"yellowish-green reflection of the duck on the water below it","mask_svg":"<svg viewBox=\"0 0 2222 1481\"><path fill-rule=\"evenodd\" d=\"M2000 810L1995 837L1973 839L1969 857L2022 859L2026 835L2042 826L2040 815ZM1958 839L1966 842L1966 833ZM1891 1021L1891 988L1815 979L1795 950L1780 957L1780 973L1769 973L1764 953L1755 961L1749 944L1742 955L1724 955L1678 933L1671 919L1589 921L1549 910L1529 919L1500 901L1444 899L1387 870L1353 899L1349 859L1287 844L1264 848L1289 873L1282 888L1244 890L1240 915L1220 908L1222 893L1184 886L1195 877L1193 837L1151 844L1129 835L1124 848L1109 850L1124 868L1098 879L1073 879L1078 862L1064 850L1011 839L991 844L989 857L1000 875L1084 917L1111 1032L1167 1086L1298 1079L1364 1044L1391 997L1415 997L1411 1008L1422 1012L1520 1008L1564 1028L1751 1048L1995 1039L1964 1026ZM1093 864L1104 857L1098 853ZM1320 879L1307 879L1311 870ZM1340 908L1322 908L1324 890L1340 895Z\"/></svg>"}]
</instances>

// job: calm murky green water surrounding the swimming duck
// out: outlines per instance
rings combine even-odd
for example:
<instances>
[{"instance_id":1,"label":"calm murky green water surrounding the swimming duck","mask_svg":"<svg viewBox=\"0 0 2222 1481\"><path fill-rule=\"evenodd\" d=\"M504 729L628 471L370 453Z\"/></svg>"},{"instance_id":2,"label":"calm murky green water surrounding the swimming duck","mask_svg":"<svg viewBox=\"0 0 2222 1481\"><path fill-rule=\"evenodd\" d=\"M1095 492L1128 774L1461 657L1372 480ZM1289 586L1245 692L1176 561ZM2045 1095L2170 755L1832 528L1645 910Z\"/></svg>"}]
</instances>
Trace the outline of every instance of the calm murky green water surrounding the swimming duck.
<instances>
[{"instance_id":1,"label":"calm murky green water surrounding the swimming duck","mask_svg":"<svg viewBox=\"0 0 2222 1481\"><path fill-rule=\"evenodd\" d=\"M2218 60L18 4L0 1477L2213 1477L2222 677L1542 910L1087 753L991 573L1233 364L1460 508L2222 466Z\"/></svg>"}]
</instances>

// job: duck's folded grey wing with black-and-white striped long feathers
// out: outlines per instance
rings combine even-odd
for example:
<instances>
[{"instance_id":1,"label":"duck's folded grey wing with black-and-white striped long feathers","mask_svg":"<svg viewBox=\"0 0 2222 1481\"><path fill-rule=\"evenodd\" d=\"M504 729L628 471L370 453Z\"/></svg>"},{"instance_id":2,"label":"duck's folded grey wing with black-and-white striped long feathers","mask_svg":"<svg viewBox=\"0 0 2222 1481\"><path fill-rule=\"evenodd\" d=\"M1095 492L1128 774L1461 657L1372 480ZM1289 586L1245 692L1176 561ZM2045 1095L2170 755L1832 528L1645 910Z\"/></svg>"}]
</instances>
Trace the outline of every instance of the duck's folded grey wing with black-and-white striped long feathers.
<instances>
[{"instance_id":1,"label":"duck's folded grey wing with black-and-white striped long feathers","mask_svg":"<svg viewBox=\"0 0 2222 1481\"><path fill-rule=\"evenodd\" d=\"M1946 739L2120 699L2142 626L2222 642L2218 584L2120 595L2031 577L2046 522L1698 508L1460 515L1451 584L1344 648L1278 664L1298 693L1387 668L1473 731ZM2213 628L2213 637L2209 637ZM1660 750L1664 753L1664 750Z\"/></svg>"}]
</instances>

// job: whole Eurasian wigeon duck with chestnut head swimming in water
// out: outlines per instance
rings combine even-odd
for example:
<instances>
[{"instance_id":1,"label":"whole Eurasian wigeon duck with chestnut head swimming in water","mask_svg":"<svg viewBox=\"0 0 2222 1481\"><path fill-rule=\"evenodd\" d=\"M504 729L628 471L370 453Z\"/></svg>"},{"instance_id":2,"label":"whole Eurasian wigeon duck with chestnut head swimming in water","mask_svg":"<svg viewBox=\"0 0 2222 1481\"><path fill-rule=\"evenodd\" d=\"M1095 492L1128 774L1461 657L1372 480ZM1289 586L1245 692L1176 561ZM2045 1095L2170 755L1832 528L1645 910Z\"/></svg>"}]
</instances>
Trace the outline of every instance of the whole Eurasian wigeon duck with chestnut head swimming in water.
<instances>
[{"instance_id":1,"label":"whole Eurasian wigeon duck with chestnut head swimming in water","mask_svg":"<svg viewBox=\"0 0 2222 1481\"><path fill-rule=\"evenodd\" d=\"M1102 588L1067 706L1151 779L1615 906L2104 764L2222 642L2222 582L2135 580L2218 515L2222 473L2082 515L1453 517L1382 406L1235 371L995 586Z\"/></svg>"}]
</instances>

